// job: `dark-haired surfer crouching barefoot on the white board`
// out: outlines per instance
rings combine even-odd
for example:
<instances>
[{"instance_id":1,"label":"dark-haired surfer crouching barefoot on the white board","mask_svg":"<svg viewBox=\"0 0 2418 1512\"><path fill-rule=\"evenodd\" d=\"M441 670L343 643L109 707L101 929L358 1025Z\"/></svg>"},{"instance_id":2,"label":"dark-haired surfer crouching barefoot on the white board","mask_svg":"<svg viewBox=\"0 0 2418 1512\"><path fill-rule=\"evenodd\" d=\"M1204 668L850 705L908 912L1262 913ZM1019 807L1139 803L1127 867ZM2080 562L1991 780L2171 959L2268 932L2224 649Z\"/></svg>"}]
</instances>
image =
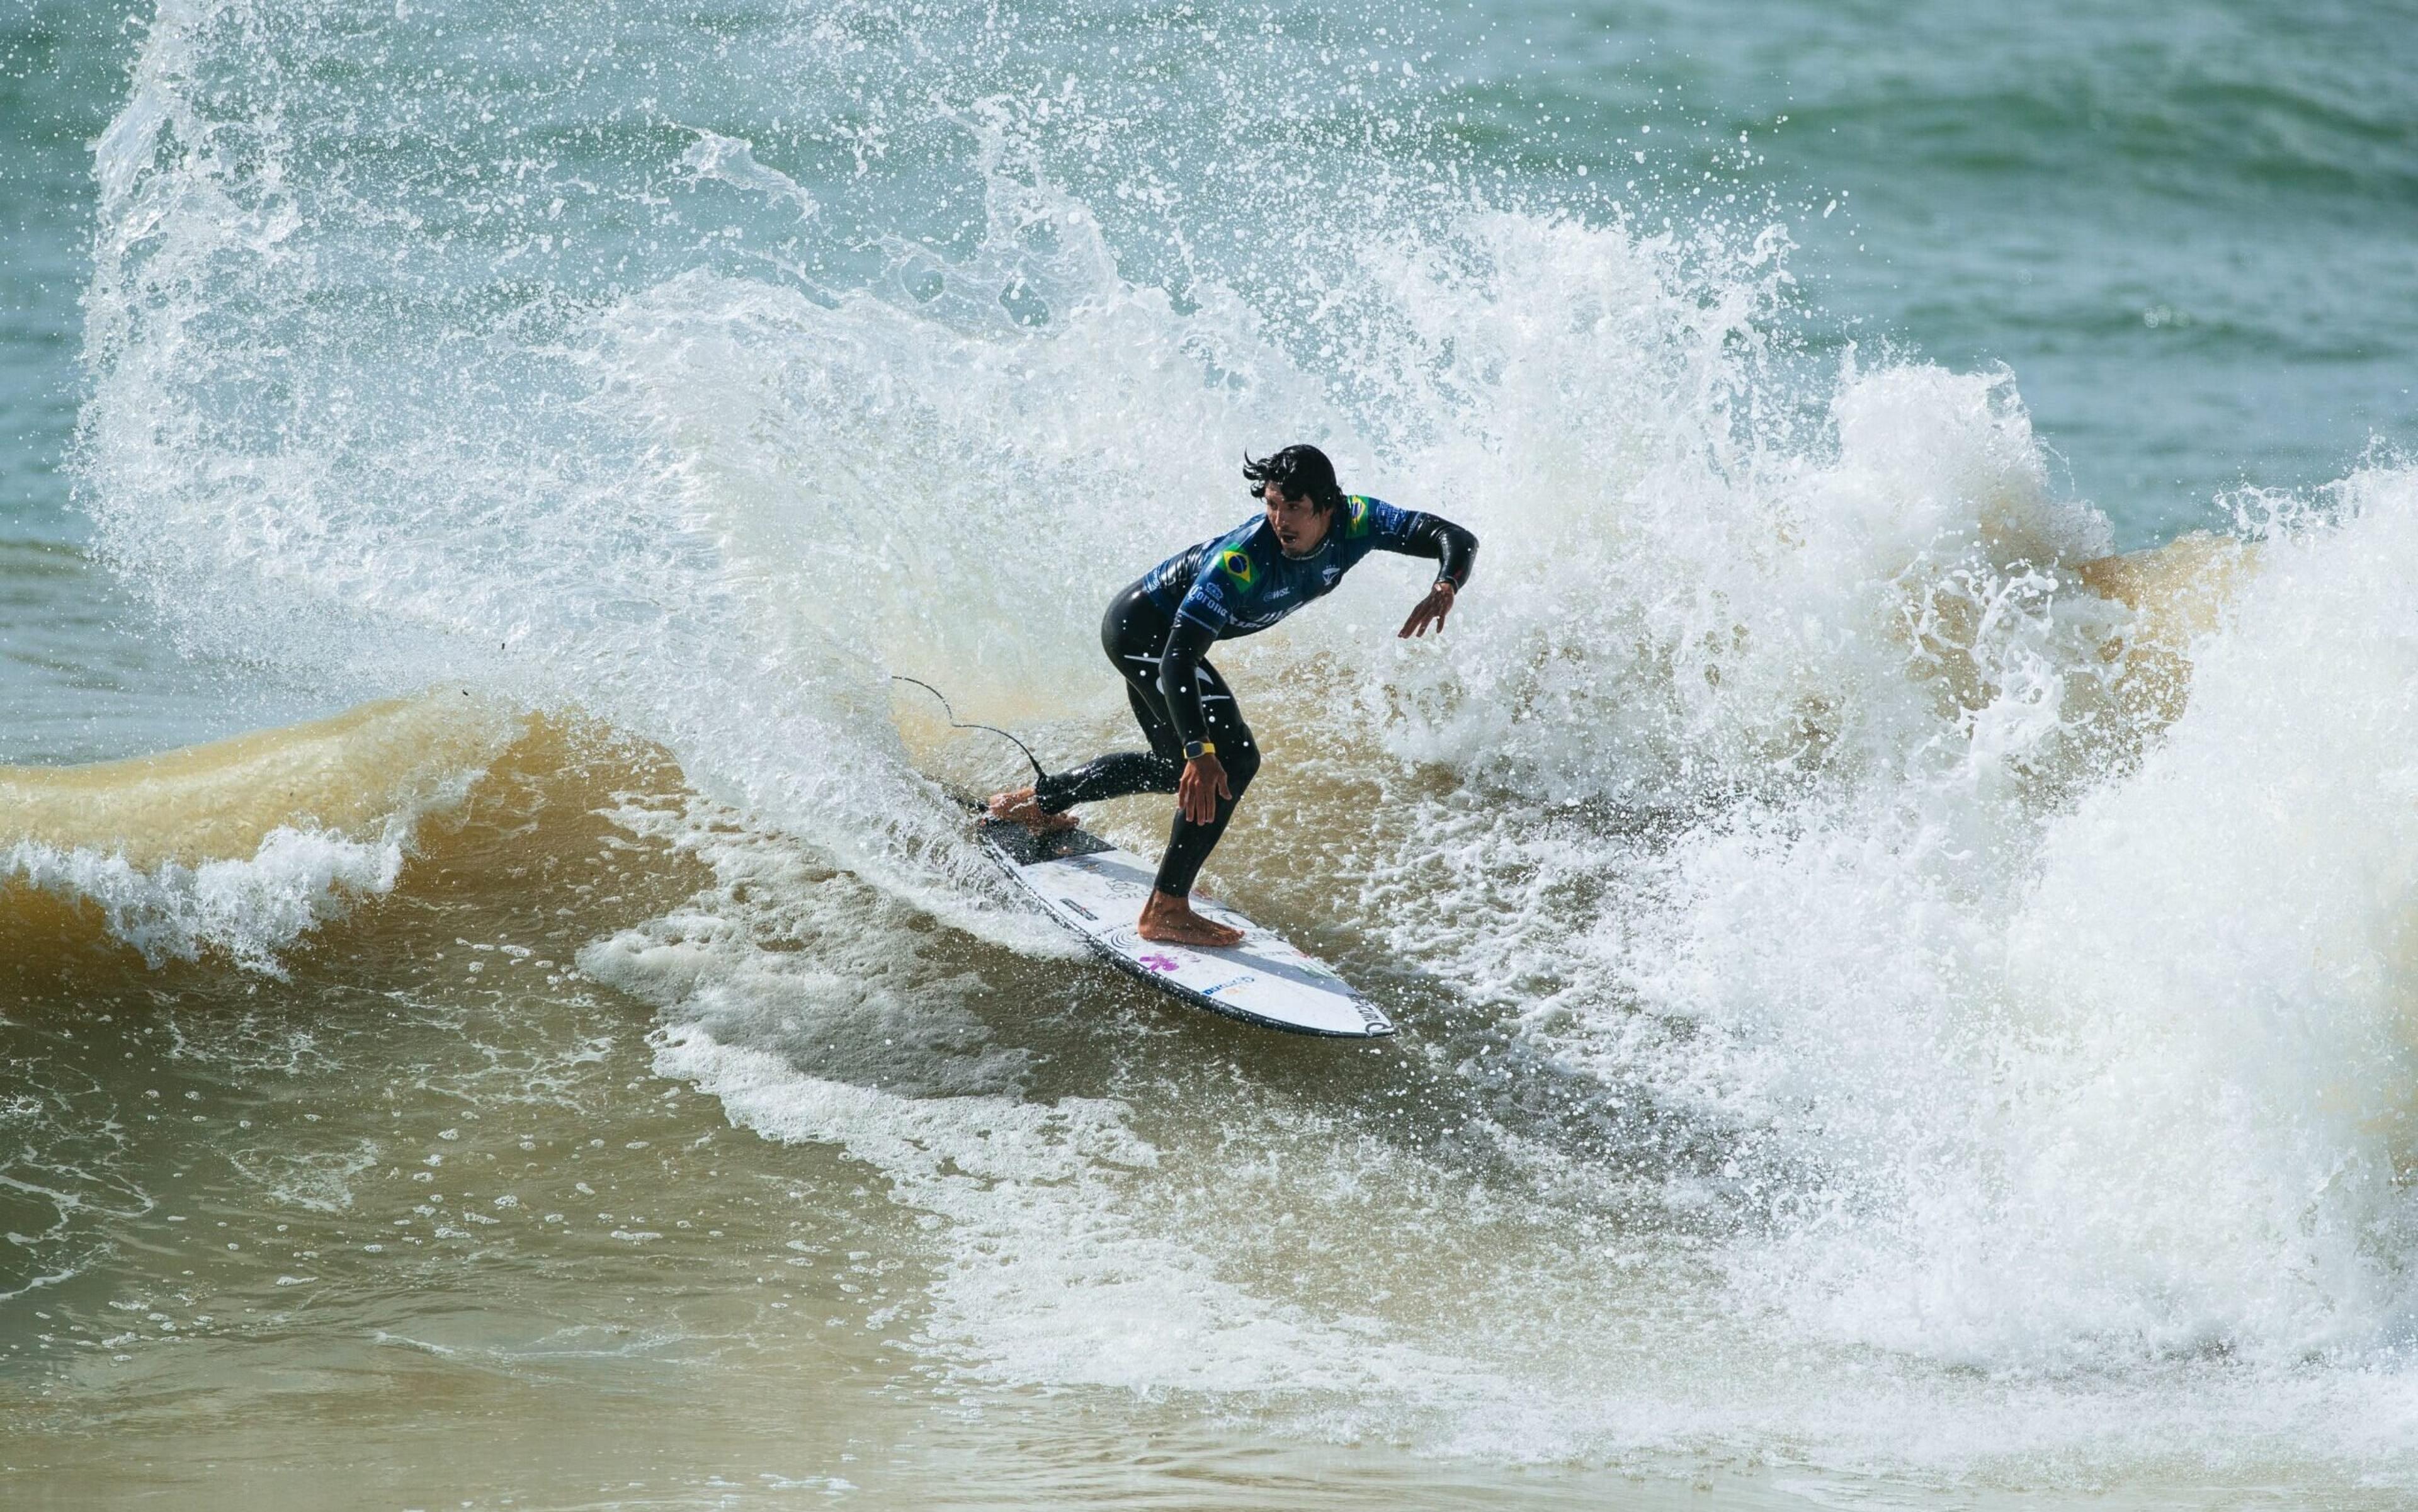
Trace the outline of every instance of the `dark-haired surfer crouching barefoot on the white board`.
<instances>
[{"instance_id":1,"label":"dark-haired surfer crouching barefoot on the white board","mask_svg":"<svg viewBox=\"0 0 2418 1512\"><path fill-rule=\"evenodd\" d=\"M1161 943L1243 939L1192 912L1192 878L1260 769L1233 689L1202 660L1209 646L1262 631L1323 598L1369 552L1436 561L1436 583L1400 634L1424 636L1429 624L1441 634L1477 559L1477 537L1451 520L1344 494L1335 464L1313 445L1260 460L1245 452L1243 477L1265 513L1168 556L1117 593L1100 619L1100 648L1124 677L1151 750L1120 750L989 801L994 820L1069 830L1076 818L1066 810L1076 803L1175 793L1175 830L1136 922L1141 939Z\"/></svg>"}]
</instances>

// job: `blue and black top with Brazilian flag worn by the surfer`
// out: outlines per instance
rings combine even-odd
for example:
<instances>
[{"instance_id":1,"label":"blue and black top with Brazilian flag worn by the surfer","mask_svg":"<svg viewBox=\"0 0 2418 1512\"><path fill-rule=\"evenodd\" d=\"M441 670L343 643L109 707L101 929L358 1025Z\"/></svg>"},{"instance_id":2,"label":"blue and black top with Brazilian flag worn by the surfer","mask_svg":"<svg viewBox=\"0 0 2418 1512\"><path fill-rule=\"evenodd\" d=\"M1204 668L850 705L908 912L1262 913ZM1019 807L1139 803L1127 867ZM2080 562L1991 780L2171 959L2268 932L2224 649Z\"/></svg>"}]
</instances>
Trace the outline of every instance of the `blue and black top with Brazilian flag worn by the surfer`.
<instances>
[{"instance_id":1,"label":"blue and black top with Brazilian flag worn by the surfer","mask_svg":"<svg viewBox=\"0 0 2418 1512\"><path fill-rule=\"evenodd\" d=\"M1255 518L1168 556L1141 578L1141 593L1170 619L1161 692L1185 740L1202 740L1207 728L1192 675L1202 653L1325 598L1369 552L1429 556L1436 578L1458 590L1477 561L1477 537L1451 520L1352 494L1308 556L1286 556L1267 520Z\"/></svg>"}]
</instances>

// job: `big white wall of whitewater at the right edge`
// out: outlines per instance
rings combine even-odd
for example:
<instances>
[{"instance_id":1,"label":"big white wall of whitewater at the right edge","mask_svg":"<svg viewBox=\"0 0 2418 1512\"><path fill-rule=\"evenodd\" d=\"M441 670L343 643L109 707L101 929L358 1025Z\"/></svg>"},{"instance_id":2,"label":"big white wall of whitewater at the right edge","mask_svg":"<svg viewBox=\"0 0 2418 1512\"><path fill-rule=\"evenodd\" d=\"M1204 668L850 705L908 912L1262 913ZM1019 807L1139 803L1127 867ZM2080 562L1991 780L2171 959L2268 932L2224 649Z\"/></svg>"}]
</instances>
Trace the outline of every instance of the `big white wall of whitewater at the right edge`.
<instances>
[{"instance_id":1,"label":"big white wall of whitewater at the right edge","mask_svg":"<svg viewBox=\"0 0 2418 1512\"><path fill-rule=\"evenodd\" d=\"M1939 774L1673 849L1603 960L1746 1130L1751 1299L1997 1369L2406 1340L2418 489L2324 503L2070 801Z\"/></svg>"}]
</instances>

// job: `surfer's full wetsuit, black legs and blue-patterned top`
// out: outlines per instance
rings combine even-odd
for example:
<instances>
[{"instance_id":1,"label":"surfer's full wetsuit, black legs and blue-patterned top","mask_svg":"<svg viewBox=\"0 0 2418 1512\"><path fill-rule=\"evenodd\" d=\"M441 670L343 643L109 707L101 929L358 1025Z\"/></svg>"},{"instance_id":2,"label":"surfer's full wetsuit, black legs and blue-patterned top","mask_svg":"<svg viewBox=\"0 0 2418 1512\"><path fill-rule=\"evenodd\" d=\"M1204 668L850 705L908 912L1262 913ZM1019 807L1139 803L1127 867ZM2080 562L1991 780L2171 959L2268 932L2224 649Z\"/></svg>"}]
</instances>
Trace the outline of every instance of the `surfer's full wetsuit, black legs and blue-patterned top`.
<instances>
[{"instance_id":1,"label":"surfer's full wetsuit, black legs and blue-patterned top","mask_svg":"<svg viewBox=\"0 0 2418 1512\"><path fill-rule=\"evenodd\" d=\"M1100 648L1124 677L1124 697L1151 750L1105 755L1035 784L1045 813L1127 793L1173 793L1185 772L1185 743L1216 745L1231 798L1216 818L1194 825L1175 813L1158 890L1185 898L1202 861L1216 849L1236 801L1260 769L1260 745L1243 723L1233 689L1202 656L1216 641L1267 629L1313 598L1323 598L1369 552L1400 552L1436 561L1436 578L1460 588L1477 559L1477 537L1381 498L1352 496L1308 556L1286 556L1265 518L1168 556L1127 585L1100 619Z\"/></svg>"}]
</instances>

